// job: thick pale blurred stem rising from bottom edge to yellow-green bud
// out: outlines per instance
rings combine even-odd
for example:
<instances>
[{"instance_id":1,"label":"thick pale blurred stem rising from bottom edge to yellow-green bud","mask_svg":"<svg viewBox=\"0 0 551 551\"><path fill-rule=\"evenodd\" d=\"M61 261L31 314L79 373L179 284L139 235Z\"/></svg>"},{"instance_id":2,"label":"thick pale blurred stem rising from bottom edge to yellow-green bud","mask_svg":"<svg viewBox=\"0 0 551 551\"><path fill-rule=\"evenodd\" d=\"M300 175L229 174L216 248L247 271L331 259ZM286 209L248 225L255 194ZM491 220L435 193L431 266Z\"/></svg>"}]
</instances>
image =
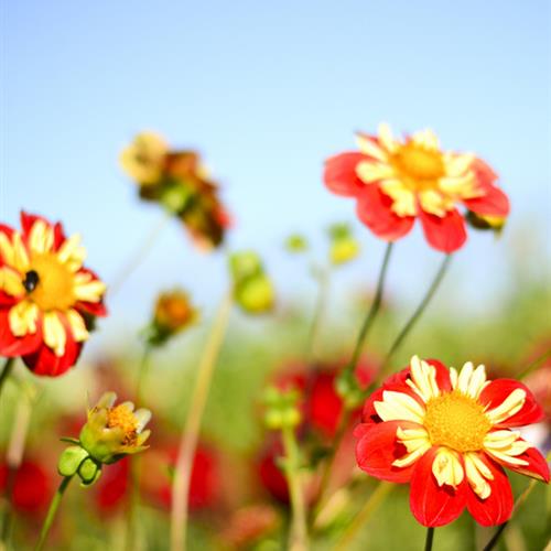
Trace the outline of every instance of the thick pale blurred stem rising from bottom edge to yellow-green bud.
<instances>
[{"instance_id":1,"label":"thick pale blurred stem rising from bottom edge to yellow-green bud","mask_svg":"<svg viewBox=\"0 0 551 551\"><path fill-rule=\"evenodd\" d=\"M223 300L208 337L201 364L197 380L192 395L190 410L184 431L182 432L179 455L172 483L171 511L171 550L184 550L186 545L186 530L188 516L190 480L192 476L193 458L197 447L201 422L205 410L210 380L218 353L224 341L226 327L231 311L233 293L229 292Z\"/></svg>"}]
</instances>

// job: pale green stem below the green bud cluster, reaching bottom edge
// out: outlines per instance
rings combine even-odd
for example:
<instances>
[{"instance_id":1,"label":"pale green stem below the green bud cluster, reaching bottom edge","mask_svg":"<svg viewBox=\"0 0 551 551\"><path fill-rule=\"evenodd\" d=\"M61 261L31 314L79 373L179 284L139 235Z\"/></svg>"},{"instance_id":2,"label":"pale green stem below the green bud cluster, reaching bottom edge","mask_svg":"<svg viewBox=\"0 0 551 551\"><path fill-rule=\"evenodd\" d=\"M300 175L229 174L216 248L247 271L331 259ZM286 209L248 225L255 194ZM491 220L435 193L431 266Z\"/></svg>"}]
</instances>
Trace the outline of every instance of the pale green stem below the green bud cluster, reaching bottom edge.
<instances>
[{"instance_id":1,"label":"pale green stem below the green bud cluster, reaching bottom edge","mask_svg":"<svg viewBox=\"0 0 551 551\"><path fill-rule=\"evenodd\" d=\"M283 447L285 451L285 477L291 497L291 530L289 533L289 549L304 551L309 548L306 528L306 505L304 503L303 485L300 473L300 453L293 429L282 429Z\"/></svg>"}]
</instances>

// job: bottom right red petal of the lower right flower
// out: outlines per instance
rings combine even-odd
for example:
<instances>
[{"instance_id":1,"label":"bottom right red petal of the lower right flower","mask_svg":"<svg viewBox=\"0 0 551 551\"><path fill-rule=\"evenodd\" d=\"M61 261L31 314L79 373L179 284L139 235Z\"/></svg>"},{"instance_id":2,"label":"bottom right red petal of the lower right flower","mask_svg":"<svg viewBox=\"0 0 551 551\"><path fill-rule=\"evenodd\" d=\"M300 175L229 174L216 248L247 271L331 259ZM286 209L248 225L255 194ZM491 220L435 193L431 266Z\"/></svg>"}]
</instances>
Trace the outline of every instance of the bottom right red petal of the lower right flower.
<instances>
[{"instance_id":1,"label":"bottom right red petal of the lower right flower","mask_svg":"<svg viewBox=\"0 0 551 551\"><path fill-rule=\"evenodd\" d=\"M491 494L486 499L480 499L467 483L467 509L474 519L482 526L503 525L509 520L512 512L512 491L505 471L485 454L478 457L486 464L494 475L493 480L487 480Z\"/></svg>"}]
</instances>

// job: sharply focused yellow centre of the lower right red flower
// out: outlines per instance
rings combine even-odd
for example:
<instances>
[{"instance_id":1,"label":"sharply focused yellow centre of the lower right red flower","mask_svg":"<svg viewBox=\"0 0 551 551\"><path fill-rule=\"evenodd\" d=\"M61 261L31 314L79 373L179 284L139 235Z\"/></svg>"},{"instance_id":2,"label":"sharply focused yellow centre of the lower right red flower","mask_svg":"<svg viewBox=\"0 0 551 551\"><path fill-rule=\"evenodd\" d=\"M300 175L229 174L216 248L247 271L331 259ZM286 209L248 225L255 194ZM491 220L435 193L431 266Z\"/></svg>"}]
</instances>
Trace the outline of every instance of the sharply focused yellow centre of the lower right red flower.
<instances>
[{"instance_id":1,"label":"sharply focused yellow centre of the lower right red flower","mask_svg":"<svg viewBox=\"0 0 551 551\"><path fill-rule=\"evenodd\" d=\"M480 403L453 390L429 400L424 426L433 445L445 445L457 452L476 452L483 449L491 422Z\"/></svg>"}]
</instances>

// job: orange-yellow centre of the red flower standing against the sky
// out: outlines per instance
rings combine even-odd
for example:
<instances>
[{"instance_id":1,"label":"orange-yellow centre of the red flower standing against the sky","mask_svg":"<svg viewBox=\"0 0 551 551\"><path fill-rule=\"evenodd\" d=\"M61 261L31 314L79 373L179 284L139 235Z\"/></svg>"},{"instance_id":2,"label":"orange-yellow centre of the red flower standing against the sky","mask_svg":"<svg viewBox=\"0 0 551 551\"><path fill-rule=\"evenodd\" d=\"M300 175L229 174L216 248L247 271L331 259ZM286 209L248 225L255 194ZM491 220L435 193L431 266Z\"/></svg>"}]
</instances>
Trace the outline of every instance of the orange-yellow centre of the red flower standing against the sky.
<instances>
[{"instance_id":1,"label":"orange-yellow centre of the red flower standing against the sky","mask_svg":"<svg viewBox=\"0 0 551 551\"><path fill-rule=\"evenodd\" d=\"M414 142L400 145L390 162L412 191L437 188L437 181L445 175L442 153Z\"/></svg>"}]
</instances>

